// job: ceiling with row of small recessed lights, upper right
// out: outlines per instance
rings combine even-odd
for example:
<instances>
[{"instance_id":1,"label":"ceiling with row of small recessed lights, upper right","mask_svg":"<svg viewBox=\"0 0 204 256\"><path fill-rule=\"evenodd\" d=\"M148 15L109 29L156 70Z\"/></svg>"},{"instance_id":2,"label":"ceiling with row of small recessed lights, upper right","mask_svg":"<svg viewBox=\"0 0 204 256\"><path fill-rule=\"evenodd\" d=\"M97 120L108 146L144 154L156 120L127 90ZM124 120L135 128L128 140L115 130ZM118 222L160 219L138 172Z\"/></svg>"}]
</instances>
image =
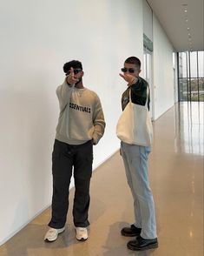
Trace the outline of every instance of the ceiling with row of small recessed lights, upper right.
<instances>
[{"instance_id":1,"label":"ceiling with row of small recessed lights, upper right","mask_svg":"<svg viewBox=\"0 0 204 256\"><path fill-rule=\"evenodd\" d=\"M204 51L203 0L147 0L175 51Z\"/></svg>"}]
</instances>

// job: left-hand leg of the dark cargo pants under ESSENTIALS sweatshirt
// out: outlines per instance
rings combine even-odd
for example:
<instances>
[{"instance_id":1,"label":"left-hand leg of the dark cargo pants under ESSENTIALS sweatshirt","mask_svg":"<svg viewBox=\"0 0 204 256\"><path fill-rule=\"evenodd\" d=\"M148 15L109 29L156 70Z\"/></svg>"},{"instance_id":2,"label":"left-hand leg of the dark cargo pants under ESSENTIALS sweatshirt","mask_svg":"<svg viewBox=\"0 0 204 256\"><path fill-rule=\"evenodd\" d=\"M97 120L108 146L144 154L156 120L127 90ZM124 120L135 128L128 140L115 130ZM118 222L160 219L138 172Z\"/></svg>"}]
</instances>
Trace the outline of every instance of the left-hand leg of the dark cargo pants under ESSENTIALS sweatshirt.
<instances>
[{"instance_id":1,"label":"left-hand leg of the dark cargo pants under ESSENTIALS sweatshirt","mask_svg":"<svg viewBox=\"0 0 204 256\"><path fill-rule=\"evenodd\" d=\"M56 140L52 153L53 196L50 227L62 228L66 223L72 165L73 156L68 145Z\"/></svg>"}]
</instances>

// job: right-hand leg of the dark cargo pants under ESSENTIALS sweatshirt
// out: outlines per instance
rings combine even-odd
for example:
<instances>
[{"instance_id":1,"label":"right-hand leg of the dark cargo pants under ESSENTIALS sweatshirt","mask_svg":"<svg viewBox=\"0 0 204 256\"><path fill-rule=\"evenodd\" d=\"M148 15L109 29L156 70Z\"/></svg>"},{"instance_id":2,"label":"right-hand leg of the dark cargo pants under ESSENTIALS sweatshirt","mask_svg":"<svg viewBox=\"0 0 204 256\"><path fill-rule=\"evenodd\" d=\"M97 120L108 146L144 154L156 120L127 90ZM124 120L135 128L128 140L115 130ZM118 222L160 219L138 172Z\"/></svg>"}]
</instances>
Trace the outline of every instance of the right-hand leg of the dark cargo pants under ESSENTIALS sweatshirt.
<instances>
[{"instance_id":1,"label":"right-hand leg of the dark cargo pants under ESSENTIALS sweatshirt","mask_svg":"<svg viewBox=\"0 0 204 256\"><path fill-rule=\"evenodd\" d=\"M92 175L93 145L81 145L74 158L75 199L73 217L75 226L89 226L89 185Z\"/></svg>"}]
</instances>

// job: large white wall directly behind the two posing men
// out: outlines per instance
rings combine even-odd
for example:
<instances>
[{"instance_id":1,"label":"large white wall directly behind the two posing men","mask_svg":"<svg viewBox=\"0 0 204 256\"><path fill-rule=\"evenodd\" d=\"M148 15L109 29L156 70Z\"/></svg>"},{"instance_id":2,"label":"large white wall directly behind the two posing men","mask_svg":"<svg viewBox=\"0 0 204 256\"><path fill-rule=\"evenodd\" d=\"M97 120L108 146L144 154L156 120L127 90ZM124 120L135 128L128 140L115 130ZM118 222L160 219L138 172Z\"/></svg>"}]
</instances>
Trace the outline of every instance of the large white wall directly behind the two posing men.
<instances>
[{"instance_id":1,"label":"large white wall directly behind the two posing men","mask_svg":"<svg viewBox=\"0 0 204 256\"><path fill-rule=\"evenodd\" d=\"M82 61L107 122L94 167L119 148L115 124L126 57L142 59L141 0L1 1L0 245L51 200L51 152L63 64ZM48 219L49 221L49 219Z\"/></svg>"}]
</instances>

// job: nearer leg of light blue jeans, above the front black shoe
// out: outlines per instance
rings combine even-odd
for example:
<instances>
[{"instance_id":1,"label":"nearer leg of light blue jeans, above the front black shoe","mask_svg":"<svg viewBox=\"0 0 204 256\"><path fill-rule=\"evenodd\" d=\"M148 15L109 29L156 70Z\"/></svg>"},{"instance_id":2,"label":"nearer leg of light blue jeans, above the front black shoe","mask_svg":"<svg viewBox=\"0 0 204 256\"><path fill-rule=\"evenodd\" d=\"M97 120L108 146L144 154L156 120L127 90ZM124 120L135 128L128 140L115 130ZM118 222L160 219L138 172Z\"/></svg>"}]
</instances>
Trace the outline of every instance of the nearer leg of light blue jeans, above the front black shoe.
<instances>
[{"instance_id":1,"label":"nearer leg of light blue jeans, above the front black shoe","mask_svg":"<svg viewBox=\"0 0 204 256\"><path fill-rule=\"evenodd\" d=\"M141 214L141 237L156 238L155 203L148 181L148 147L123 144L128 156L132 188L138 199Z\"/></svg>"}]
</instances>

